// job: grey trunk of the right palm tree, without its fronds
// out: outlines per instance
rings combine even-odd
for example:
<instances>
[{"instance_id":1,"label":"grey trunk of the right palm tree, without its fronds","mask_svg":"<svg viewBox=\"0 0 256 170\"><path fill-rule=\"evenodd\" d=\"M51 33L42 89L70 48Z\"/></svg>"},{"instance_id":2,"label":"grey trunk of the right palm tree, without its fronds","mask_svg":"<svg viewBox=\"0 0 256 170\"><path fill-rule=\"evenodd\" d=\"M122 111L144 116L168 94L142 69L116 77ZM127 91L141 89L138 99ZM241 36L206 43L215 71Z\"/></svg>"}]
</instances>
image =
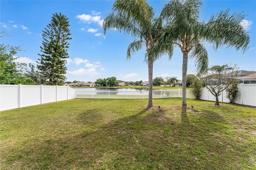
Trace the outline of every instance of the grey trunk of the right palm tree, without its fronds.
<instances>
[{"instance_id":1,"label":"grey trunk of the right palm tree, without its fronds","mask_svg":"<svg viewBox=\"0 0 256 170\"><path fill-rule=\"evenodd\" d=\"M187 68L188 68L188 52L184 52L183 64L182 64L182 106L187 106L187 102L186 102Z\"/></svg>"}]
</instances>

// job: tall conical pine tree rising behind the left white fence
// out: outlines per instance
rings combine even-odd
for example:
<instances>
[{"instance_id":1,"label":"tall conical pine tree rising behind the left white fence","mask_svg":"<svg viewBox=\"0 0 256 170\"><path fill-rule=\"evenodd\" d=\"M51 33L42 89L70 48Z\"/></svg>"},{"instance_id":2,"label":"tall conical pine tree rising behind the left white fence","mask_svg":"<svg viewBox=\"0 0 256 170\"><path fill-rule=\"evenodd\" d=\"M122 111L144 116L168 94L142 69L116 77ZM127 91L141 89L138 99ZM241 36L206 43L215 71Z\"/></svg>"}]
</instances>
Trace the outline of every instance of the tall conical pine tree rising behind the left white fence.
<instances>
[{"instance_id":1,"label":"tall conical pine tree rising behind the left white fence","mask_svg":"<svg viewBox=\"0 0 256 170\"><path fill-rule=\"evenodd\" d=\"M37 68L40 70L40 74L44 75L44 70L47 68L50 70L49 85L62 85L64 84L66 77L68 58L67 48L69 47L69 21L67 16L61 13L53 14L51 17L51 23L47 25L47 28L43 31L43 46L40 46L42 54L38 54L41 58L38 59Z\"/></svg>"}]
</instances>

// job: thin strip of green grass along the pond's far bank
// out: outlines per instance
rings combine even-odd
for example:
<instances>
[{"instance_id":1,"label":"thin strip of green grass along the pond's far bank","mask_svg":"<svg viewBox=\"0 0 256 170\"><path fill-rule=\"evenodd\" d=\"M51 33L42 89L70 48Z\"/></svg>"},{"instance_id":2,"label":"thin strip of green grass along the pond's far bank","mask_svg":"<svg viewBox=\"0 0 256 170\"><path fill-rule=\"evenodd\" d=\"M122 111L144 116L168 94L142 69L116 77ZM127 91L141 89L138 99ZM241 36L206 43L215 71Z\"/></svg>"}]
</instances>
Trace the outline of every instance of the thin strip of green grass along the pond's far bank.
<instances>
[{"instance_id":1,"label":"thin strip of green grass along the pond's far bank","mask_svg":"<svg viewBox=\"0 0 256 170\"><path fill-rule=\"evenodd\" d=\"M72 87L72 88L109 88L109 89L119 89L119 88L137 88L137 89L145 89L148 88L148 86L116 86L116 87ZM160 89L182 89L181 86L176 87L169 87L169 86L153 86L153 90L160 90ZM191 89L190 87L187 87L187 90Z\"/></svg>"}]
</instances>

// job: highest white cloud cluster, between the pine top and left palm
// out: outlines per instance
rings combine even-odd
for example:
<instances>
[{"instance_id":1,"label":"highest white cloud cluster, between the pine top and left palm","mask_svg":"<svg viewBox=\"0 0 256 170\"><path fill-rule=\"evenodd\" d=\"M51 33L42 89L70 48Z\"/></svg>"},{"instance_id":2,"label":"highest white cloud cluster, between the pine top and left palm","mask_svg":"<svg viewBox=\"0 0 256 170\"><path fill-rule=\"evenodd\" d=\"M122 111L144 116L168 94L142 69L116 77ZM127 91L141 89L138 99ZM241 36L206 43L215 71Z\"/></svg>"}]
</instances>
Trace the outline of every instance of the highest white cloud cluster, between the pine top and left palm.
<instances>
[{"instance_id":1,"label":"highest white cloud cluster, between the pine top and left palm","mask_svg":"<svg viewBox=\"0 0 256 170\"><path fill-rule=\"evenodd\" d=\"M102 27L103 25L103 19L101 19L101 16L99 16L101 14L101 12L96 12L91 10L92 14L82 14L82 15L77 15L76 18L80 19L81 22L83 23L97 23L100 27ZM103 38L105 38L105 35L103 35L102 33L96 33L98 32L98 28L94 29L94 28L81 28L82 31L87 31L87 32L91 32L91 33L95 33L95 36L102 36Z\"/></svg>"}]
</instances>

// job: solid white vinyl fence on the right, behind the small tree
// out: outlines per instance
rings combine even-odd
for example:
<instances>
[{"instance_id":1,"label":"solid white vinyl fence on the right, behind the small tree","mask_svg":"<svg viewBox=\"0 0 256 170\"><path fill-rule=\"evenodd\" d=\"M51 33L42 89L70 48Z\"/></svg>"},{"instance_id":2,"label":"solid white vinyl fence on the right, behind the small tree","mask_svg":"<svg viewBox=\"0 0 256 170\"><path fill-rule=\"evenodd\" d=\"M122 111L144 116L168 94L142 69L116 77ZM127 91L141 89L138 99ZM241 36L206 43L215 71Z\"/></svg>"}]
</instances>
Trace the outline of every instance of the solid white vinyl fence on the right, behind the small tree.
<instances>
[{"instance_id":1,"label":"solid white vinyl fence on the right, behind the small tree","mask_svg":"<svg viewBox=\"0 0 256 170\"><path fill-rule=\"evenodd\" d=\"M244 104L249 106L256 106L256 84L238 84L237 104ZM226 97L226 90L222 91L219 96L219 102L229 103ZM216 101L215 96L212 95L206 88L201 89L201 100Z\"/></svg>"}]
</instances>

